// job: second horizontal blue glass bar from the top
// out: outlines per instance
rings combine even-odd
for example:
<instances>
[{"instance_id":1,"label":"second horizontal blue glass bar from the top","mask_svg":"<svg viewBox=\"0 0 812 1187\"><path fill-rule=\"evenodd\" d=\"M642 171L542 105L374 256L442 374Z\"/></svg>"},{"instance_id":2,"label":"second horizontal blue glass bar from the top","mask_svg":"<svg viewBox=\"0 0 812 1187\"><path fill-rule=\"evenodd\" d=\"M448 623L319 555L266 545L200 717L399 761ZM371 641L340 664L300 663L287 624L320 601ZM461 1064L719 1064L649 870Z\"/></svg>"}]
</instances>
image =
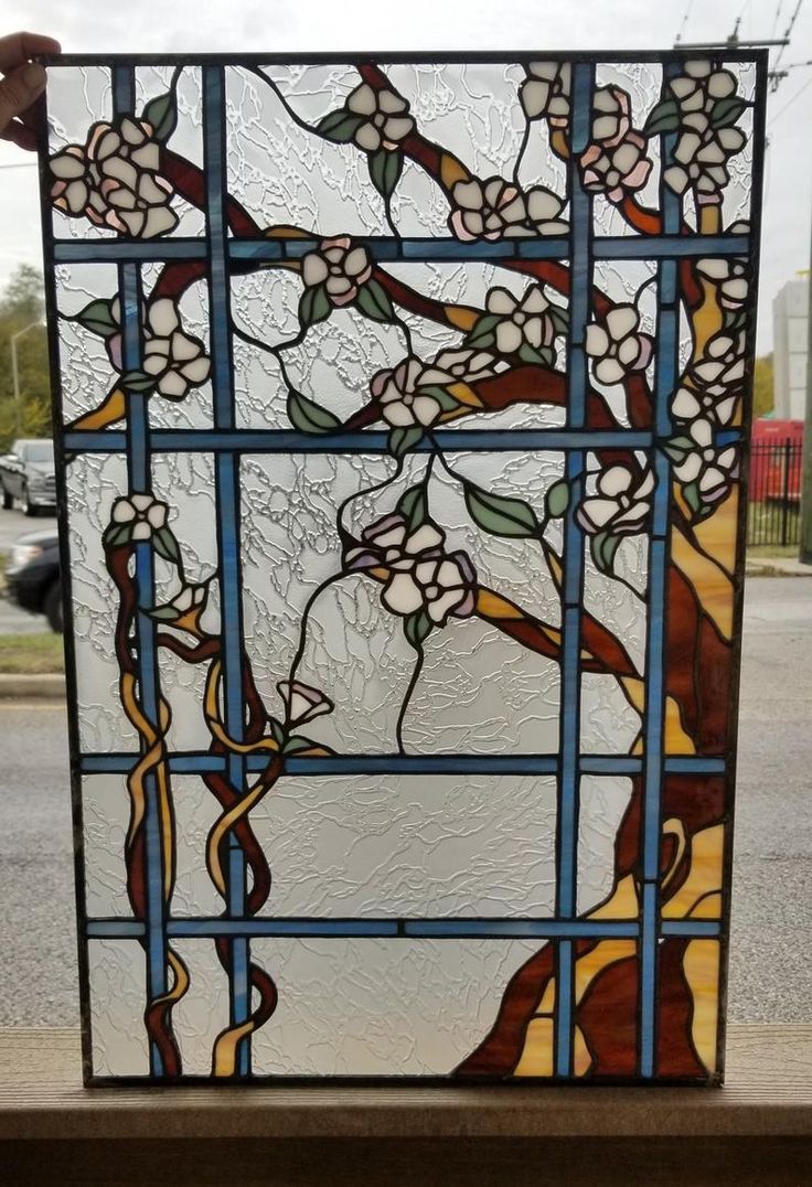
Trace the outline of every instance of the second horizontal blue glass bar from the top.
<instances>
[{"instance_id":1,"label":"second horizontal blue glass bar from the top","mask_svg":"<svg viewBox=\"0 0 812 1187\"><path fill-rule=\"evenodd\" d=\"M636 429L440 430L433 436L440 449L449 452L645 450L654 445L653 433ZM727 429L717 434L716 442L718 445L729 445L740 437L738 430ZM121 453L126 449L126 437L120 432L68 432L64 447L68 453ZM150 447L153 453L216 453L224 450L239 450L242 453L387 453L388 437L381 432L310 436L277 429L235 429L227 432L158 429L150 437ZM431 449L432 444L426 439L417 446L424 453Z\"/></svg>"}]
</instances>

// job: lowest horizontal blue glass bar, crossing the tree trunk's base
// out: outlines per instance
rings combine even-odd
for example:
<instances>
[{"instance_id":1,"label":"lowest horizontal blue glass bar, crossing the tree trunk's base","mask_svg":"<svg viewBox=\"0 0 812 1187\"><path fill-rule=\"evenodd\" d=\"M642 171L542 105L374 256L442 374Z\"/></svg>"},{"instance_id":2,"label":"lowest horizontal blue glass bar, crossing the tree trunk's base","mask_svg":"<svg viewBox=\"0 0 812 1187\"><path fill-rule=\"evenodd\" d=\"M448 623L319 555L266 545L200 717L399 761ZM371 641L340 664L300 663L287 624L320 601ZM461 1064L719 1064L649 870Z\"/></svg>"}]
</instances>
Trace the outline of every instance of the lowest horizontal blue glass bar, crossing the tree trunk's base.
<instances>
[{"instance_id":1,"label":"lowest horizontal blue glass bar, crossing the tree trunk's base","mask_svg":"<svg viewBox=\"0 0 812 1187\"><path fill-rule=\"evenodd\" d=\"M664 920L664 937L712 938L715 920ZM590 919L170 919L166 934L209 939L216 935L393 937L412 939L635 939L636 920ZM90 919L89 939L139 939L144 923L134 919Z\"/></svg>"}]
</instances>

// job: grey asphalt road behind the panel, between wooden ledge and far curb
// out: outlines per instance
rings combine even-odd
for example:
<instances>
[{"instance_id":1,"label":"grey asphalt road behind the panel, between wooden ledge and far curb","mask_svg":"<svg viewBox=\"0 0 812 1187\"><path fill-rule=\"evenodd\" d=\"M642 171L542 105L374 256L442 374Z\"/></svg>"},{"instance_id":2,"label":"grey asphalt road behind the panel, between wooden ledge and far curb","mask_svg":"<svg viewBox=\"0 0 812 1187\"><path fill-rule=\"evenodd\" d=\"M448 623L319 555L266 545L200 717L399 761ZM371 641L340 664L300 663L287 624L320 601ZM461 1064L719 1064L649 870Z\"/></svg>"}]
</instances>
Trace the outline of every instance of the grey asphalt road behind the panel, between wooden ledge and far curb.
<instances>
[{"instance_id":1,"label":"grey asphalt road behind the panel, between wooden ledge and far curb","mask_svg":"<svg viewBox=\"0 0 812 1187\"><path fill-rule=\"evenodd\" d=\"M811 578L748 583L740 743L729 1017L810 1022ZM70 1026L64 706L0 702L0 1026Z\"/></svg>"}]
</instances>

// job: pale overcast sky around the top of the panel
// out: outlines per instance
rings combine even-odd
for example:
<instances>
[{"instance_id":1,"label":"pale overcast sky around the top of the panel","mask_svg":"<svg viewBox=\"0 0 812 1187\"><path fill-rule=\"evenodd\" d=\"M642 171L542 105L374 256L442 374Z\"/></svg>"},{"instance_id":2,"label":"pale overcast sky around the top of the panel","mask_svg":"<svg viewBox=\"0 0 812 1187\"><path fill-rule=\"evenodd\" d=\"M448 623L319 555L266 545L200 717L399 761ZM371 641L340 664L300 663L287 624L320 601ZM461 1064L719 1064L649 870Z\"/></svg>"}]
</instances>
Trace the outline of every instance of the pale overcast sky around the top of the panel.
<instances>
[{"instance_id":1,"label":"pale overcast sky around the top of the panel","mask_svg":"<svg viewBox=\"0 0 812 1187\"><path fill-rule=\"evenodd\" d=\"M740 37L786 27L797 0L11 0L6 31L47 33L70 52L285 50L666 49L721 40L741 13ZM778 14L778 27L774 24ZM773 51L773 59L775 53ZM805 0L781 66L812 58L812 0ZM804 87L808 88L800 94ZM798 99L795 100L795 96ZM795 101L793 101L795 100ZM785 113L784 108L788 107ZM759 349L772 345L772 300L810 262L812 66L791 70L768 112ZM36 169L0 141L0 287L20 262L40 265Z\"/></svg>"}]
</instances>

